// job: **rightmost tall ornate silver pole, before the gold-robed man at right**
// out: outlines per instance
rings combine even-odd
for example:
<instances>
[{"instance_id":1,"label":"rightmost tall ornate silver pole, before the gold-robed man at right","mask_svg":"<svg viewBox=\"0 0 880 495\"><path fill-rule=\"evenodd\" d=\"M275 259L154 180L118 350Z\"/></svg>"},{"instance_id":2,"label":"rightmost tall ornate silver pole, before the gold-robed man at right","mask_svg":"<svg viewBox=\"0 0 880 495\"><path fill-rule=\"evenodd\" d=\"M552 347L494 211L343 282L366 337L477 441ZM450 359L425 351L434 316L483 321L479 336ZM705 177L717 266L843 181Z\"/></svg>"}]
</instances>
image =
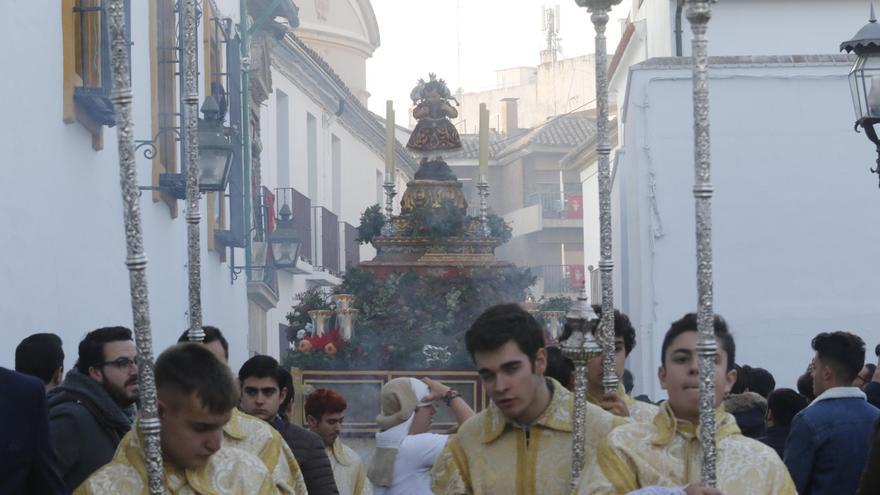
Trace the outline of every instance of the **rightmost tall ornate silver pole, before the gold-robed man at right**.
<instances>
[{"instance_id":1,"label":"rightmost tall ornate silver pole, before the gold-robed man at right","mask_svg":"<svg viewBox=\"0 0 880 495\"><path fill-rule=\"evenodd\" d=\"M712 183L709 174L709 73L706 31L712 16L710 0L688 0L687 17L694 38L694 199L697 219L697 355L700 369L701 480L714 487L715 476L715 353L712 296Z\"/></svg>"}]
</instances>

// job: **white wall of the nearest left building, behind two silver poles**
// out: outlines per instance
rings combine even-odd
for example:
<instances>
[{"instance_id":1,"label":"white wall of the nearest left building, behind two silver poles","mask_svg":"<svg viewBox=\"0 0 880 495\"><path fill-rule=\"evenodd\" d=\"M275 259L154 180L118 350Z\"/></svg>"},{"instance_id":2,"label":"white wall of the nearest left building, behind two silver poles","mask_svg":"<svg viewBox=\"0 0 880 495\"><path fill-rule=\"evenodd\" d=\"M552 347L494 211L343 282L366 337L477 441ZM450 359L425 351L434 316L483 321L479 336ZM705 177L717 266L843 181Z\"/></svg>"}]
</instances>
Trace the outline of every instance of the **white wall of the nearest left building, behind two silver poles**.
<instances>
[{"instance_id":1,"label":"white wall of the nearest left building, behind two silver poles","mask_svg":"<svg viewBox=\"0 0 880 495\"><path fill-rule=\"evenodd\" d=\"M148 4L132 2L135 137L149 139ZM27 335L55 332L64 341L65 368L82 337L107 325L131 327L116 130L104 129L104 149L93 151L79 123L62 122L61 9L25 2L0 18L7 43L0 66L16 70L0 79L7 116L0 133L6 190L0 195L0 366L13 367L14 350ZM200 30L199 35L202 32ZM199 40L199 46L202 46ZM39 60L39 63L35 61ZM199 84L200 90L202 84ZM151 163L137 155L138 181L149 185ZM182 212L183 202L178 206ZM186 220L141 198L153 350L161 352L188 327ZM202 209L202 305L205 324L230 342L230 364L247 349L243 281L230 284L229 267L206 246ZM240 258L239 258L240 259Z\"/></svg>"}]
</instances>

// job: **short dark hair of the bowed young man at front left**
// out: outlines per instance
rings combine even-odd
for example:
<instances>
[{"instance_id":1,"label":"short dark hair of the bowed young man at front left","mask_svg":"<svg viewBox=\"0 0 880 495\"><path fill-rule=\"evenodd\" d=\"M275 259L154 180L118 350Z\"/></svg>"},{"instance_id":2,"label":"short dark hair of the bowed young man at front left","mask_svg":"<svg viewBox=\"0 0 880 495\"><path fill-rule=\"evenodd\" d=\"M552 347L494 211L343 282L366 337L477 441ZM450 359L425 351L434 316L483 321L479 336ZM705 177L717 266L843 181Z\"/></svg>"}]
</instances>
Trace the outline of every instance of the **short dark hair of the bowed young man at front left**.
<instances>
[{"instance_id":1,"label":"short dark hair of the bowed young man at front left","mask_svg":"<svg viewBox=\"0 0 880 495\"><path fill-rule=\"evenodd\" d=\"M156 359L156 389L186 397L195 394L215 414L224 414L238 403L238 387L225 363L195 342L177 344Z\"/></svg>"}]
</instances>

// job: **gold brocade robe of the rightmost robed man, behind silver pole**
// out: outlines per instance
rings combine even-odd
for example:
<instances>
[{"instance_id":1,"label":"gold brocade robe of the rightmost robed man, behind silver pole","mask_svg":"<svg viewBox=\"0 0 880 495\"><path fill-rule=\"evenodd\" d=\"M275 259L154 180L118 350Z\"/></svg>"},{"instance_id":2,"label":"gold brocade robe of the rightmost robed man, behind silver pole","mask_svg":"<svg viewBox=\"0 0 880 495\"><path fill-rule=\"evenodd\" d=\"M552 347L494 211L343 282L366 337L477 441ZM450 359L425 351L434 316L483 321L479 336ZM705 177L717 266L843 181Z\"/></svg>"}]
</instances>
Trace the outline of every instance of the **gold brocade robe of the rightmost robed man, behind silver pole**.
<instances>
[{"instance_id":1,"label":"gold brocade robe of the rightmost robed man, behind silver pole","mask_svg":"<svg viewBox=\"0 0 880 495\"><path fill-rule=\"evenodd\" d=\"M744 437L734 417L716 412L715 470L718 489L731 495L796 495L788 470L776 452ZM648 486L698 484L702 464L699 428L677 421L668 403L651 423L615 429L584 469L577 495L626 494Z\"/></svg>"}]
</instances>

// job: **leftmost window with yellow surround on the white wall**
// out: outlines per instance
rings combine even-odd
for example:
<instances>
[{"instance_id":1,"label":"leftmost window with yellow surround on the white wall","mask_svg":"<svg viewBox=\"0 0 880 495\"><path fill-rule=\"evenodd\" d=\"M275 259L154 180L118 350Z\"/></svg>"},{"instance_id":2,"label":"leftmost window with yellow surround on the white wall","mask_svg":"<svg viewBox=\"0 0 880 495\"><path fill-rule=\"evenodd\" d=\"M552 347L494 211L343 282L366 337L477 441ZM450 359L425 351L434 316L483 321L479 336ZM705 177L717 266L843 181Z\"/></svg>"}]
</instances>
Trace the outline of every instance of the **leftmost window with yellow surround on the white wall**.
<instances>
[{"instance_id":1,"label":"leftmost window with yellow surround on the white wall","mask_svg":"<svg viewBox=\"0 0 880 495\"><path fill-rule=\"evenodd\" d=\"M81 123L92 135L92 148L104 147L102 126L116 124L110 102L110 40L107 0L62 0L64 46L63 119ZM131 38L130 4L124 2ZM131 55L129 51L129 55ZM129 57L130 58L130 57Z\"/></svg>"}]
</instances>

